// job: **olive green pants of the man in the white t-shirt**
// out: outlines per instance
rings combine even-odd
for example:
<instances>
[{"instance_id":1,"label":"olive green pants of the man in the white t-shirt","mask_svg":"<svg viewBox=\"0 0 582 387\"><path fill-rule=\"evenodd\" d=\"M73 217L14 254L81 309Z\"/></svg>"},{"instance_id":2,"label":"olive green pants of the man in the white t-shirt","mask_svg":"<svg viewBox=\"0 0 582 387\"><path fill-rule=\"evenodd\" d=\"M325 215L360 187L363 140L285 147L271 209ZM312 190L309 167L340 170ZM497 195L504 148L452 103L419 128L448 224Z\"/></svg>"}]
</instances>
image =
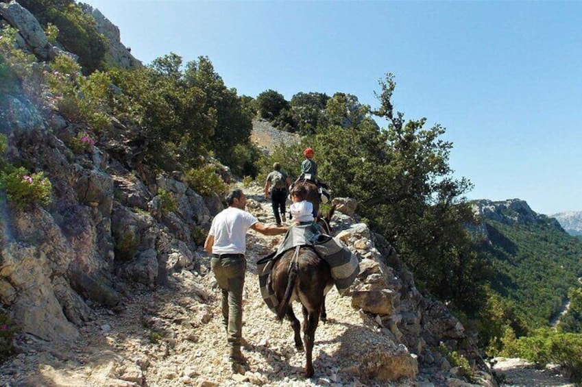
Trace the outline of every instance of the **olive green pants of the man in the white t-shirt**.
<instances>
[{"instance_id":1,"label":"olive green pants of the man in the white t-shirt","mask_svg":"<svg viewBox=\"0 0 582 387\"><path fill-rule=\"evenodd\" d=\"M243 336L243 287L245 285L245 258L215 258L210 266L222 290L222 322L226 326L228 345L241 347Z\"/></svg>"}]
</instances>

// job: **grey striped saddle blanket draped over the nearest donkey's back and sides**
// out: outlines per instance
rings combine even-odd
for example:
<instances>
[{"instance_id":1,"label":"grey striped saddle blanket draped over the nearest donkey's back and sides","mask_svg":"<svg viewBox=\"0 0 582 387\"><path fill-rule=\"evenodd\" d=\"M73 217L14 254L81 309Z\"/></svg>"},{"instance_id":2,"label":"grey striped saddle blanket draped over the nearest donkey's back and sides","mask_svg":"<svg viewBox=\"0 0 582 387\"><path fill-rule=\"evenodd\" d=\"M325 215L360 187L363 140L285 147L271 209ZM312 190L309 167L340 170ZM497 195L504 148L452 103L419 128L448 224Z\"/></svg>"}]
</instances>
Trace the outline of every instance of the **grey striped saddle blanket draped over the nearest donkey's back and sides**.
<instances>
[{"instance_id":1,"label":"grey striped saddle blanket draped over the nearest donkey's back and sides","mask_svg":"<svg viewBox=\"0 0 582 387\"><path fill-rule=\"evenodd\" d=\"M277 251L256 262L260 294L270 310L276 312L279 301L271 286L271 270L278 258L290 249L309 246L330 265L331 276L340 295L344 295L360 273L358 258L338 238L320 234L312 225L289 229Z\"/></svg>"}]
</instances>

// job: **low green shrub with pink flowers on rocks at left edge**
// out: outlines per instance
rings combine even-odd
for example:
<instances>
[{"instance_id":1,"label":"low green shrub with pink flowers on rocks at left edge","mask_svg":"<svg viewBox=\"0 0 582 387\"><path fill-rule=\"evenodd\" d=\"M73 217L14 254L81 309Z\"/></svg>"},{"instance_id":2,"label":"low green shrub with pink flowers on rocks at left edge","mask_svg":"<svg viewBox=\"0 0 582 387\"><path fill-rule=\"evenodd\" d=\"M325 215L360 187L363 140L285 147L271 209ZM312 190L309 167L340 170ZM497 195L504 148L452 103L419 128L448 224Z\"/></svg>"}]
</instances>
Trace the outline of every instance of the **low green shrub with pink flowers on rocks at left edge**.
<instances>
[{"instance_id":1,"label":"low green shrub with pink flowers on rocks at left edge","mask_svg":"<svg viewBox=\"0 0 582 387\"><path fill-rule=\"evenodd\" d=\"M16 208L27 210L51 202L52 184L43 172L28 173L23 167L5 169L0 174L0 187Z\"/></svg>"}]
</instances>

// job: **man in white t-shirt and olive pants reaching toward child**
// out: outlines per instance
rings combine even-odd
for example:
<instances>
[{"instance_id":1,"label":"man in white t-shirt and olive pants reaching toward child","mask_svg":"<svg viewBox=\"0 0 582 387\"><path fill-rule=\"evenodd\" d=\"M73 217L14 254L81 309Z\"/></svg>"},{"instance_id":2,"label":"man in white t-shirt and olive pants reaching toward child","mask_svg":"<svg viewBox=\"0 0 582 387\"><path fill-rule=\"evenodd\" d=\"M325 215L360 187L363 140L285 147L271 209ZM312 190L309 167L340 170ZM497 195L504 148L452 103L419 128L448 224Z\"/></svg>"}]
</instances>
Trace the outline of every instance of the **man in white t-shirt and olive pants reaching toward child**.
<instances>
[{"instance_id":1,"label":"man in white t-shirt and olive pants reaching toward child","mask_svg":"<svg viewBox=\"0 0 582 387\"><path fill-rule=\"evenodd\" d=\"M210 266L222 290L223 324L230 346L229 360L245 364L241 353L243 328L243 286L245 284L246 234L252 228L265 235L287 232L289 227L264 225L245 211L247 199L242 190L226 195L228 208L222 210L210 226L204 249L212 254Z\"/></svg>"}]
</instances>

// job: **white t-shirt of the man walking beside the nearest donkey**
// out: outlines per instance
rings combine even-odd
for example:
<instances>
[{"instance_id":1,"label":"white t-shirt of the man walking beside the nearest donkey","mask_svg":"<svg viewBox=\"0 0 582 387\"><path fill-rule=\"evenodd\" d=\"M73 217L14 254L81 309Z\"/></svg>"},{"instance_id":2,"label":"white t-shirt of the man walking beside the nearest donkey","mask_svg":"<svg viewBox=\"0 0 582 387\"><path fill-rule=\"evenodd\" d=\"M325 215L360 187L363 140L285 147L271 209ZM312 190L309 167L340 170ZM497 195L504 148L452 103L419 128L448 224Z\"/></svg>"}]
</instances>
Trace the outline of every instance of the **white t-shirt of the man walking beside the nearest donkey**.
<instances>
[{"instance_id":1,"label":"white t-shirt of the man walking beside the nearest donkey","mask_svg":"<svg viewBox=\"0 0 582 387\"><path fill-rule=\"evenodd\" d=\"M213 219L208 234L214 236L213 253L244 254L248 229L258 222L254 216L236 207L222 210Z\"/></svg>"}]
</instances>

